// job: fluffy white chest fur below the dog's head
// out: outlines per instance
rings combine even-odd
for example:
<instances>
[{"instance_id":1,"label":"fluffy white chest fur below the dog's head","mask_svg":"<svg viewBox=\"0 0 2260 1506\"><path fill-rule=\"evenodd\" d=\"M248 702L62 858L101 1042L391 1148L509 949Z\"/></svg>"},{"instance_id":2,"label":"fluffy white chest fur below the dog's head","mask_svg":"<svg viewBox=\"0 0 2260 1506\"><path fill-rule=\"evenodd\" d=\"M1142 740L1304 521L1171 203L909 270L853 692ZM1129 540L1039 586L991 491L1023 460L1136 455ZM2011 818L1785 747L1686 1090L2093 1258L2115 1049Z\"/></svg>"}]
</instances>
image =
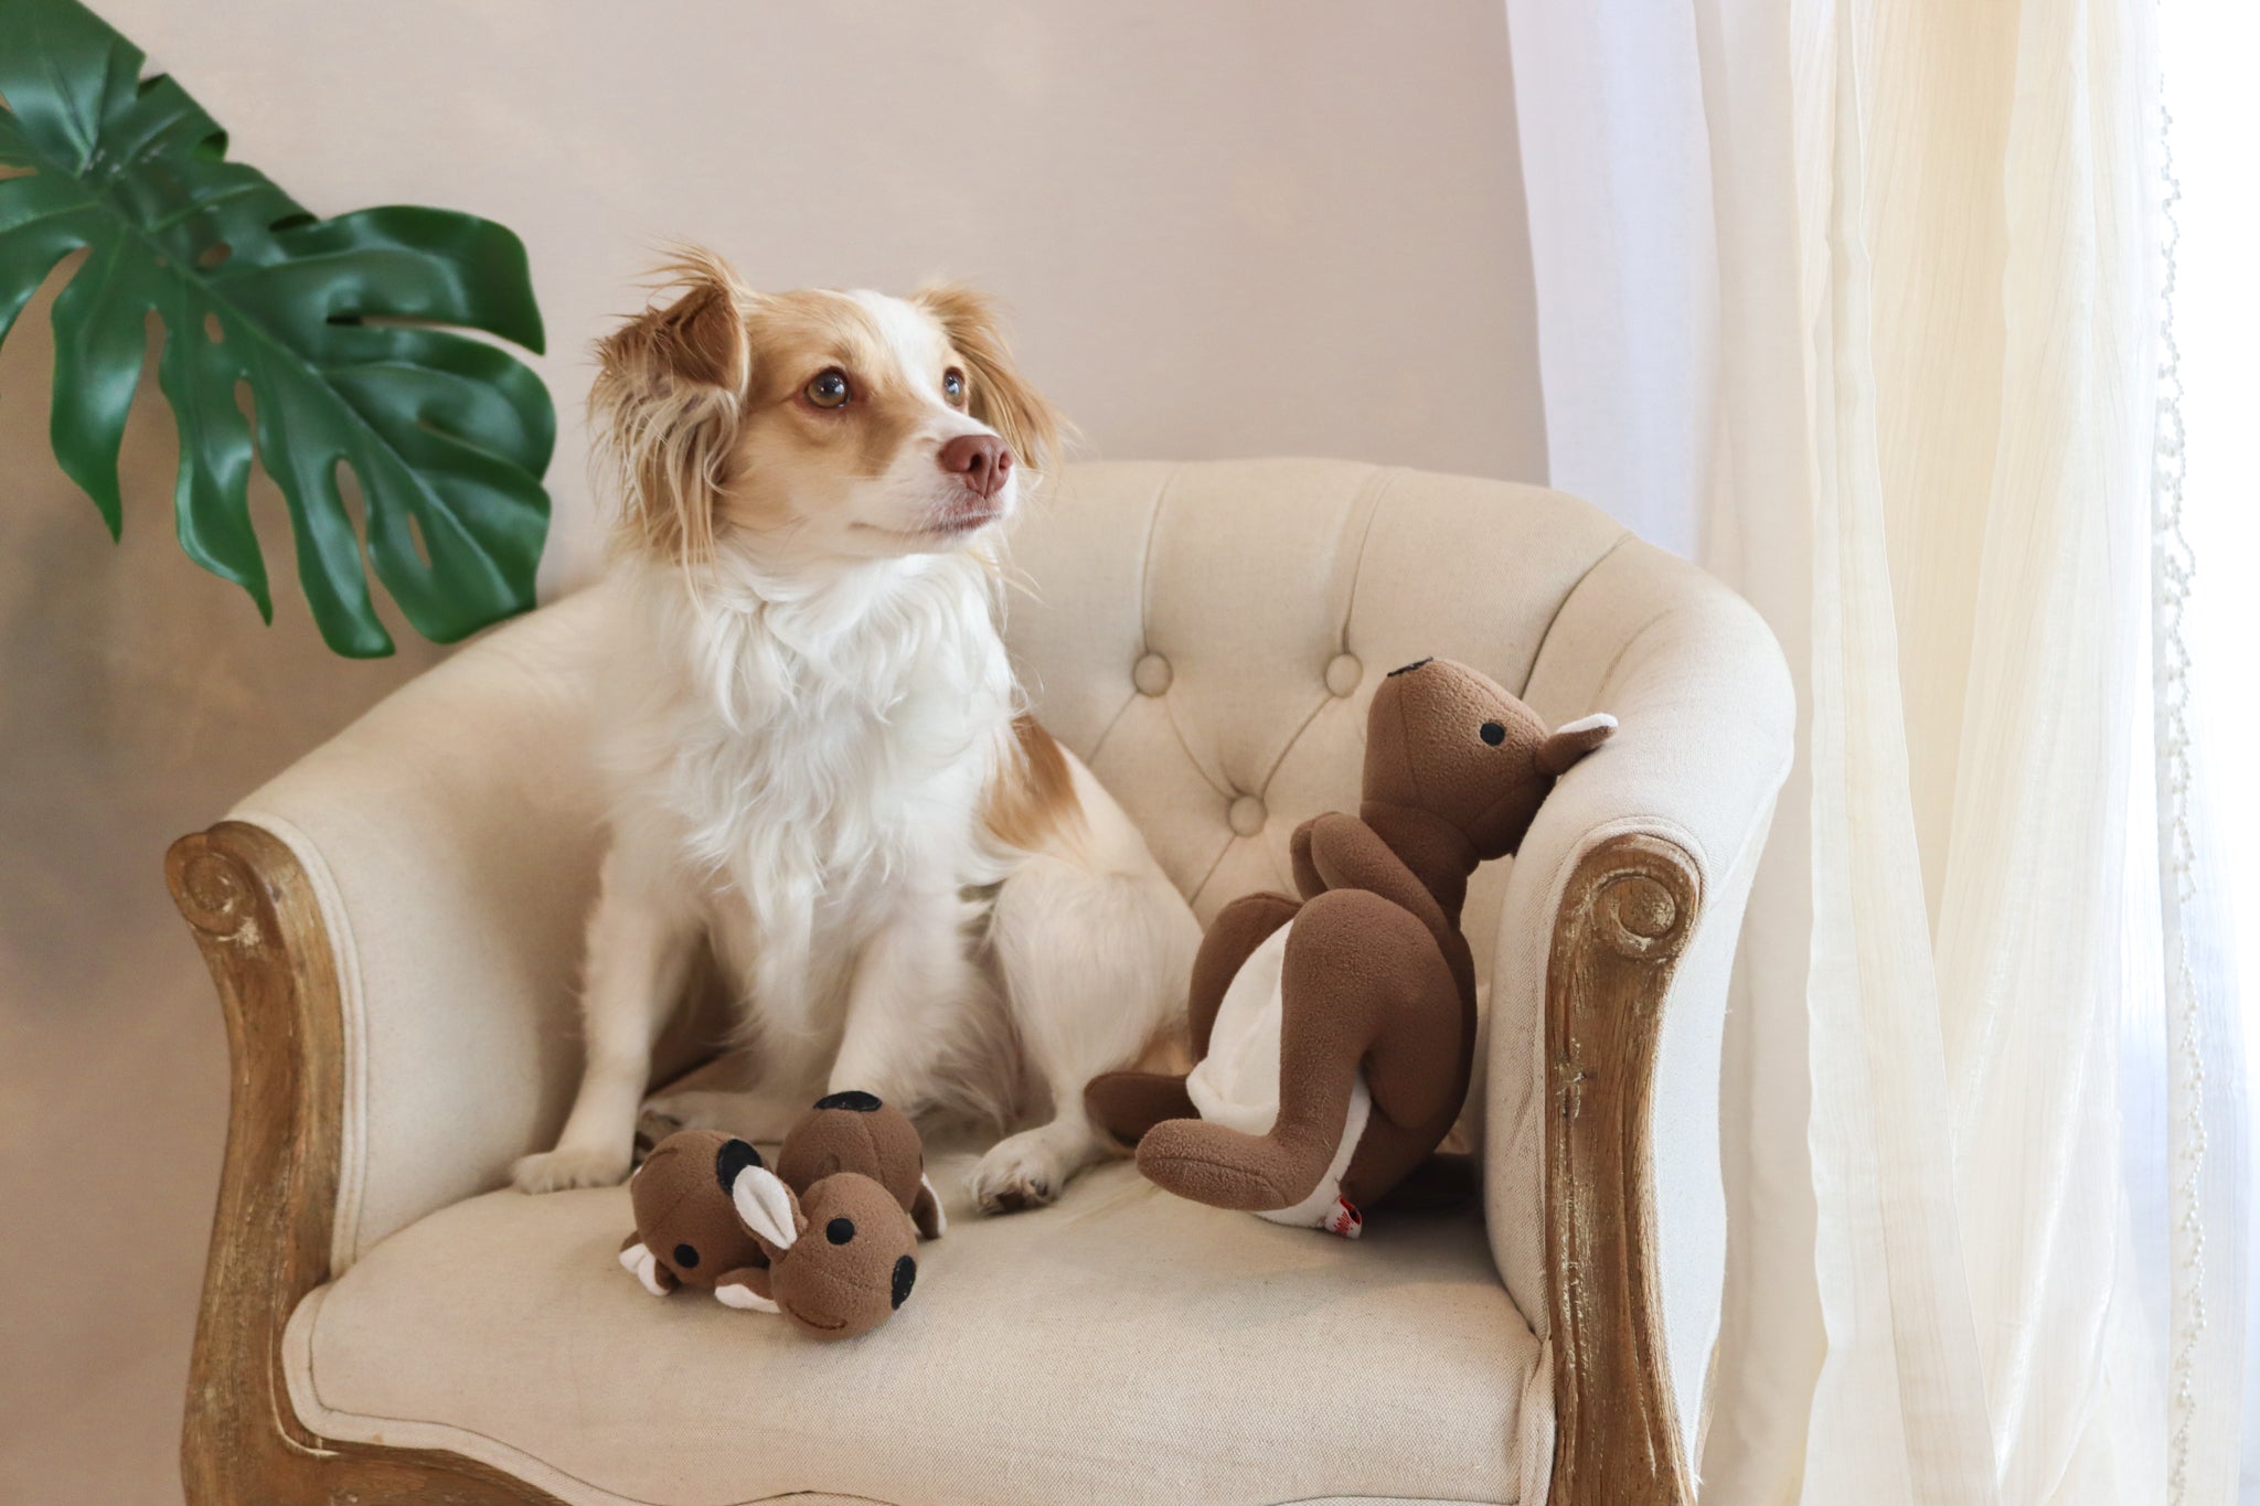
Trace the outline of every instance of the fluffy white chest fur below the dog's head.
<instances>
[{"instance_id":1,"label":"fluffy white chest fur below the dog's head","mask_svg":"<svg viewBox=\"0 0 2260 1506\"><path fill-rule=\"evenodd\" d=\"M1012 682L981 564L886 560L825 589L701 598L628 580L617 820L707 874L714 935L762 1014L802 1030L904 885L992 883L983 790Z\"/></svg>"}]
</instances>

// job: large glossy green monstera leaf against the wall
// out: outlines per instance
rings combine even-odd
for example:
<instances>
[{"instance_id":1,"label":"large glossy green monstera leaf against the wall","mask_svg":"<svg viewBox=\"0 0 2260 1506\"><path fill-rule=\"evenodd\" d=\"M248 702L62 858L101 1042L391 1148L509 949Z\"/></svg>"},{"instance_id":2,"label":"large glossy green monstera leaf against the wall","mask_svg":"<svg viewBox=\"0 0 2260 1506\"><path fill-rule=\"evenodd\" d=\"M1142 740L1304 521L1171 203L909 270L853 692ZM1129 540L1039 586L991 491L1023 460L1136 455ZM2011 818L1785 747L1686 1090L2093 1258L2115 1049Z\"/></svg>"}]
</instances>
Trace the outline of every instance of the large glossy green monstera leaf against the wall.
<instances>
[{"instance_id":1,"label":"large glossy green monstera leaf against the wall","mask_svg":"<svg viewBox=\"0 0 2260 1506\"><path fill-rule=\"evenodd\" d=\"M86 253L54 300L54 458L115 535L154 312L181 429L181 549L262 616L253 454L289 501L298 580L337 653L393 648L368 567L443 643L533 605L556 413L524 364L457 332L540 352L524 246L447 210L316 219L226 147L86 7L0 0L0 341L56 264ZM341 470L359 485L366 567Z\"/></svg>"}]
</instances>

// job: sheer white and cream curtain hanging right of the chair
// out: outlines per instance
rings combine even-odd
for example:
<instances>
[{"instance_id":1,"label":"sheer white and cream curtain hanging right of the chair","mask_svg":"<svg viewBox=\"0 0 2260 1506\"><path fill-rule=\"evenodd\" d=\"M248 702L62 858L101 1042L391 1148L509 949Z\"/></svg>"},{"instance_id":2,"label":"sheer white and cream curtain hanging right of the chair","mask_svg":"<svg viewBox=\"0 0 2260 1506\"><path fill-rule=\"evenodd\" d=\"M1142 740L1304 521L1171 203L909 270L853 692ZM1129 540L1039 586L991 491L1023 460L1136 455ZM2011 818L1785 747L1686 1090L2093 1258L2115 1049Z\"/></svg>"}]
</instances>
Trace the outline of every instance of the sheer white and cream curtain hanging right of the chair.
<instances>
[{"instance_id":1,"label":"sheer white and cream curtain hanging right of the chair","mask_svg":"<svg viewBox=\"0 0 2260 1506\"><path fill-rule=\"evenodd\" d=\"M2152 7L1507 16L1555 479L1634 524L1693 479L1704 558L1774 623L1803 709L1729 1025L1704 1495L2226 1499L2242 1359L2188 1339L2181 1276L2145 1307L2167 1210L2138 1228L2122 1104L2174 914ZM1596 131L1596 99L1643 102L1641 131ZM1636 325L1584 341L1591 309L1659 289L1700 305L1661 321L1661 366ZM1643 465L1611 458L1627 436L1700 443ZM2208 1066L2233 1084L2233 1054ZM2192 1122L2152 1068L2161 1122ZM2194 1192L2174 1269L2204 1231L2222 1319L2242 1222Z\"/></svg>"}]
</instances>

